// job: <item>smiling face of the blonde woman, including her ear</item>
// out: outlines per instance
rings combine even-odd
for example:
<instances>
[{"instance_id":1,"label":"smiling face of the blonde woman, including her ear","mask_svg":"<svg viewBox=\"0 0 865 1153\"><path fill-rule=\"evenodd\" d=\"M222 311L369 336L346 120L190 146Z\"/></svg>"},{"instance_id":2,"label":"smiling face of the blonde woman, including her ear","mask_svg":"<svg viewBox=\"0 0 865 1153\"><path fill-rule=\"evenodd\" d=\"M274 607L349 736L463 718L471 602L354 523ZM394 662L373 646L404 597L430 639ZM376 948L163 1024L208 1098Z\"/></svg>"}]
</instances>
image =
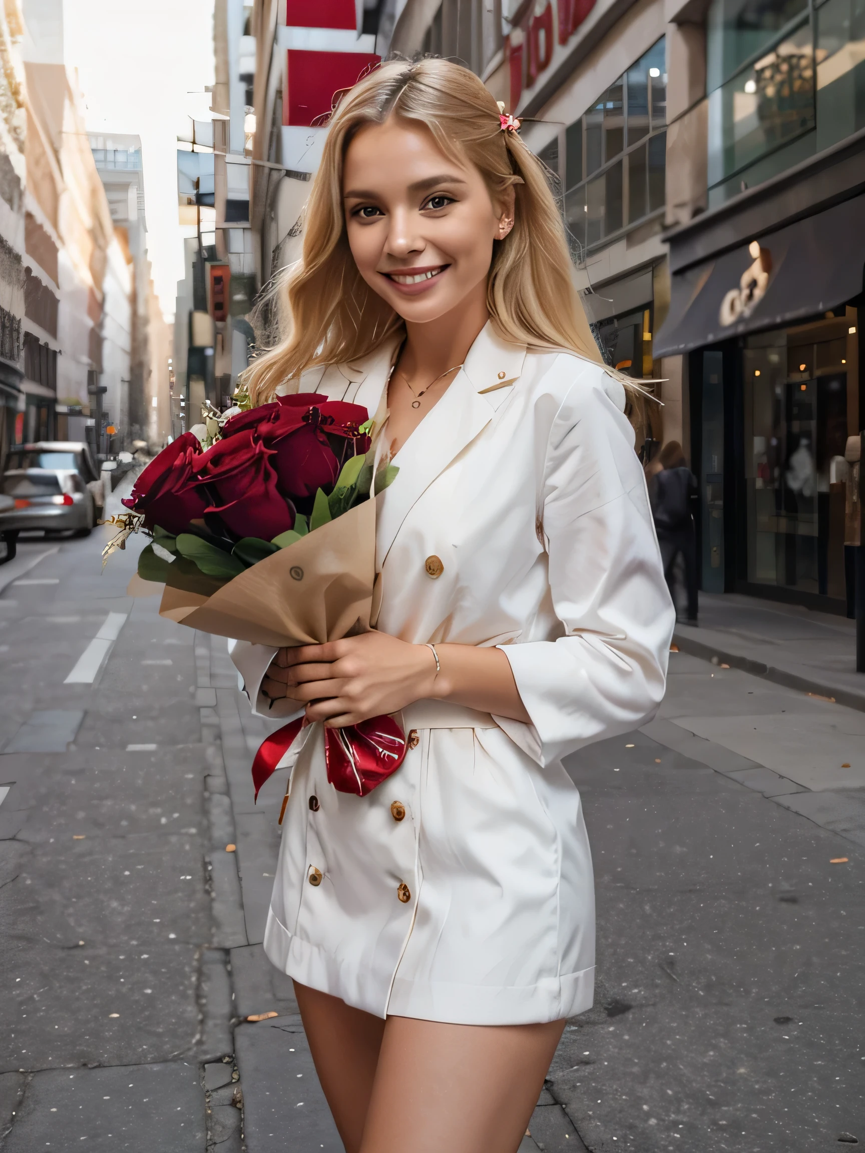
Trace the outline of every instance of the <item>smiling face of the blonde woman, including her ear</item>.
<instances>
[{"instance_id":1,"label":"smiling face of the blonde woman, including her ear","mask_svg":"<svg viewBox=\"0 0 865 1153\"><path fill-rule=\"evenodd\" d=\"M486 302L492 242L513 220L512 191L495 205L473 165L446 157L422 126L392 116L364 126L348 145L343 195L360 274L407 322Z\"/></svg>"}]
</instances>

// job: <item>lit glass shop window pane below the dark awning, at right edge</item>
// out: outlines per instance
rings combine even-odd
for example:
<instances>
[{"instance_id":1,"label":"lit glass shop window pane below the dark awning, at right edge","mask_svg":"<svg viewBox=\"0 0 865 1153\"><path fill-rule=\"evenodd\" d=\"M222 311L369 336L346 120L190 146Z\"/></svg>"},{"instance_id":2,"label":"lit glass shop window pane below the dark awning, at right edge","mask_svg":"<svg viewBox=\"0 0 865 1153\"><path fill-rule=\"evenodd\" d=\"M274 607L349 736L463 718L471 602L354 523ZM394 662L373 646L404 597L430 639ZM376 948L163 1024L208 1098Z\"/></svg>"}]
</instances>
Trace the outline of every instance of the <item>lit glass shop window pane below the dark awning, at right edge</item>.
<instances>
[{"instance_id":1,"label":"lit glass shop window pane below the dark awning, at right edge","mask_svg":"<svg viewBox=\"0 0 865 1153\"><path fill-rule=\"evenodd\" d=\"M747 581L845 598L857 310L745 338Z\"/></svg>"}]
</instances>

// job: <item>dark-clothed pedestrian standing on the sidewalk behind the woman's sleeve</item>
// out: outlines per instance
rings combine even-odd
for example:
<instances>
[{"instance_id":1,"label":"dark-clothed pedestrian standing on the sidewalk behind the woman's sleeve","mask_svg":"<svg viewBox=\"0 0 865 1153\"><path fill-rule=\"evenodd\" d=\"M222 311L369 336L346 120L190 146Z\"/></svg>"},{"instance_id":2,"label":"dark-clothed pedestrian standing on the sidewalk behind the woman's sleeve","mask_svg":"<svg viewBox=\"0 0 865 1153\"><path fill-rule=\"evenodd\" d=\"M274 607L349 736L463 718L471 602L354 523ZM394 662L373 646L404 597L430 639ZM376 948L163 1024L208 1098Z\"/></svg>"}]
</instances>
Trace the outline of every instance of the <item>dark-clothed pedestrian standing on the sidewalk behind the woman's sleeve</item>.
<instances>
[{"instance_id":1,"label":"dark-clothed pedestrian standing on the sidewalk behind the woman's sleeve","mask_svg":"<svg viewBox=\"0 0 865 1153\"><path fill-rule=\"evenodd\" d=\"M660 470L649 478L649 499L667 587L676 604L676 560L682 557L687 595L687 624L697 624L697 534L691 498L697 477L685 464L678 440L669 440L660 452ZM676 608L678 617L678 605Z\"/></svg>"}]
</instances>

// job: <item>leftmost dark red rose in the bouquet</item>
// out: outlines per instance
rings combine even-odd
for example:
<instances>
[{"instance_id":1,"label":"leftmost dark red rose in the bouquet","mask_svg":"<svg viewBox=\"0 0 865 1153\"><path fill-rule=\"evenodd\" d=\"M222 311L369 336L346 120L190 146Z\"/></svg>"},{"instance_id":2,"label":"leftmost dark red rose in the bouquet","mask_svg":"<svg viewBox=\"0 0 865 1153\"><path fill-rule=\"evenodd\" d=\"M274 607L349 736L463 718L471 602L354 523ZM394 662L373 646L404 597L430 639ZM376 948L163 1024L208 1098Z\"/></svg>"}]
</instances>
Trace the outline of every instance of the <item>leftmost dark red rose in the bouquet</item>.
<instances>
[{"instance_id":1,"label":"leftmost dark red rose in the bouquet","mask_svg":"<svg viewBox=\"0 0 865 1153\"><path fill-rule=\"evenodd\" d=\"M146 528L158 525L166 533L185 532L209 504L195 473L201 455L198 438L194 432L185 432L150 461L133 485L131 495L121 503L143 513Z\"/></svg>"}]
</instances>

